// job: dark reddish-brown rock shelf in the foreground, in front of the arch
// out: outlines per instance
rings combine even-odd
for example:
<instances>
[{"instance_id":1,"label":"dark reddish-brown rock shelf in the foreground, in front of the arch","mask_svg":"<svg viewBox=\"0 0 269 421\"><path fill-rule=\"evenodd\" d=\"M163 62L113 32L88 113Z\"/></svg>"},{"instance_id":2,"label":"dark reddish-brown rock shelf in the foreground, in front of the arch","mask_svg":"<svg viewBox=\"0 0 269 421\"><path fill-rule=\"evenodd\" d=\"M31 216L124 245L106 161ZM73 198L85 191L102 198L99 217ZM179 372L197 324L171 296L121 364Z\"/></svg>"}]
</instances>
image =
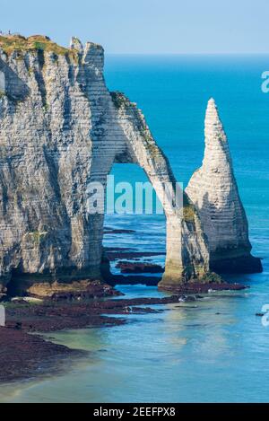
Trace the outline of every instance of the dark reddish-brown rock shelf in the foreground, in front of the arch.
<instances>
[{"instance_id":1,"label":"dark reddish-brown rock shelf in the foreground, in front of the arch","mask_svg":"<svg viewBox=\"0 0 269 421\"><path fill-rule=\"evenodd\" d=\"M126 323L128 314L163 311L153 309L152 306L156 304L195 302L202 298L195 294L208 293L213 287L216 290L245 288L244 285L238 284L204 285L203 288L201 286L193 285L191 288L187 285L187 288L182 288L180 294L178 291L177 294L162 298L115 299L113 296L120 293L109 285L102 285L102 294L92 298L97 294L97 290L100 293L101 289L101 284L93 283L92 294L88 285L87 296L65 291L65 294L51 294L39 303L30 303L23 298L6 303L6 326L0 328L2 345L0 383L44 376L51 371L61 370L66 358L85 355L85 351L70 349L45 340L39 335L40 332L113 327ZM183 292L190 295L185 295ZM123 315L123 317L116 318L113 315Z\"/></svg>"}]
</instances>

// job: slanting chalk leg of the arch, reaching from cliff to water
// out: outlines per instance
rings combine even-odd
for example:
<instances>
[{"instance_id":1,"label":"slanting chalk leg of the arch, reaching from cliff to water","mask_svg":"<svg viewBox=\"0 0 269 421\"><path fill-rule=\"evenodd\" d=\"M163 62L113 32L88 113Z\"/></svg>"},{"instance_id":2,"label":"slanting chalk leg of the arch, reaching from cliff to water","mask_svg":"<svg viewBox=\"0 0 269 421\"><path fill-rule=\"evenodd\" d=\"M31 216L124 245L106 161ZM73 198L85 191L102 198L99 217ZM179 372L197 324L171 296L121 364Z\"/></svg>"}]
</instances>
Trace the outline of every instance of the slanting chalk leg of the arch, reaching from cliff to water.
<instances>
[{"instance_id":1,"label":"slanting chalk leg of the arch, reaching from cliff to water","mask_svg":"<svg viewBox=\"0 0 269 421\"><path fill-rule=\"evenodd\" d=\"M202 281L208 272L207 244L195 206L183 194L183 203L171 207L165 186L176 195L176 179L169 161L156 145L143 114L119 92L111 94L117 108L117 121L124 136L124 150L116 162L137 163L152 183L166 215L166 263L160 286L189 280Z\"/></svg>"}]
</instances>

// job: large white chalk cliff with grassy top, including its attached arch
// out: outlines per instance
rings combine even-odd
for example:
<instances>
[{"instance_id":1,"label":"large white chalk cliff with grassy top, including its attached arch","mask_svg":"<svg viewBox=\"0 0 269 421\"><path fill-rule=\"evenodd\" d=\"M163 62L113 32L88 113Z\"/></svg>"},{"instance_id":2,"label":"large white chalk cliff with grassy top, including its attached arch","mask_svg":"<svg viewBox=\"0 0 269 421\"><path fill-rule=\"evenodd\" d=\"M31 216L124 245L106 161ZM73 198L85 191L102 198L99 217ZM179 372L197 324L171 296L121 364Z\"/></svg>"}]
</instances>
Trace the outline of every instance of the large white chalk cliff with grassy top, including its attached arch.
<instances>
[{"instance_id":1,"label":"large white chalk cliff with grassy top, including its attached arch","mask_svg":"<svg viewBox=\"0 0 269 421\"><path fill-rule=\"evenodd\" d=\"M135 104L108 92L103 64L91 42L0 37L0 290L101 277L104 218L89 214L87 186L106 186L113 162L141 165L161 197L162 285L204 281L209 254L195 206L187 195L183 211L166 205L169 162Z\"/></svg>"}]
</instances>

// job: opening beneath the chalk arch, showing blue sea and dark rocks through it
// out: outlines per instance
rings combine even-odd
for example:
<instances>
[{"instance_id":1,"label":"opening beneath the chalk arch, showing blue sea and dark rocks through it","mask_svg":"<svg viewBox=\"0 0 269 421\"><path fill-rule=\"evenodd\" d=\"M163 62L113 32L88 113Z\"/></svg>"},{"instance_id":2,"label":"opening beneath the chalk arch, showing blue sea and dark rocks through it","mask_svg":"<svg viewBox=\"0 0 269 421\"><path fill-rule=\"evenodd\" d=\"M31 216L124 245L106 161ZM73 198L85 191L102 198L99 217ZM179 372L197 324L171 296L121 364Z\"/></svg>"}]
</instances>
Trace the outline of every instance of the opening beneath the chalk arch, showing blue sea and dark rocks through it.
<instances>
[{"instance_id":1,"label":"opening beneath the chalk arch, showing blue sea and dark rocks through it","mask_svg":"<svg viewBox=\"0 0 269 421\"><path fill-rule=\"evenodd\" d=\"M115 163L110 171L103 247L113 284L158 285L166 256L166 217L151 182L136 164Z\"/></svg>"}]
</instances>

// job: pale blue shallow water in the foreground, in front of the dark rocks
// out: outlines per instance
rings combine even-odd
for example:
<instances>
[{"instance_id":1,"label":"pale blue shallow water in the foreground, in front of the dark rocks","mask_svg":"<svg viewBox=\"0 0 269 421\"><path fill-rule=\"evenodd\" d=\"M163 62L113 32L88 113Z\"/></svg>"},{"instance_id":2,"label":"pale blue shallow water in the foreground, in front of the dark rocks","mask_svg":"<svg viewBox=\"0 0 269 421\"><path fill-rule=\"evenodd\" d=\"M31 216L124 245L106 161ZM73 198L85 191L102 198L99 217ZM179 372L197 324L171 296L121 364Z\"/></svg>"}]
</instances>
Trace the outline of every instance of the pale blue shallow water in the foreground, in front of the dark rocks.
<instances>
[{"instance_id":1,"label":"pale blue shallow water in the foreground, in front of the dark rocks","mask_svg":"<svg viewBox=\"0 0 269 421\"><path fill-rule=\"evenodd\" d=\"M269 328L255 313L268 289L257 281L240 293L212 293L195 303L166 305L162 313L129 315L123 326L49 334L57 343L89 350L89 357L56 377L1 386L0 400L266 401ZM161 295L143 285L121 290L126 297Z\"/></svg>"}]
</instances>

